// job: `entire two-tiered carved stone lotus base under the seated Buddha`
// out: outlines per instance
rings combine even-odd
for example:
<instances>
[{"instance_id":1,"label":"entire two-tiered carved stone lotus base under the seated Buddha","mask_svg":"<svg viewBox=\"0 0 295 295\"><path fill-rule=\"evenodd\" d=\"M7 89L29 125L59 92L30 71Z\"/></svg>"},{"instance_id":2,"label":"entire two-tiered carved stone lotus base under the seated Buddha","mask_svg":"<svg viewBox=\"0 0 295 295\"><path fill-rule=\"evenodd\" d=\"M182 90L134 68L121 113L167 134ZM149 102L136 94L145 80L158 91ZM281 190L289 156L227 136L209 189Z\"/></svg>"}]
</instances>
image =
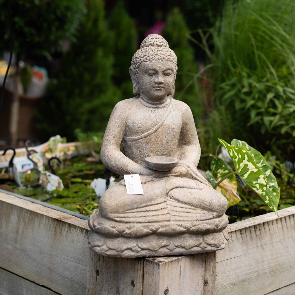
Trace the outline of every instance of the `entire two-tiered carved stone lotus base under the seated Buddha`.
<instances>
[{"instance_id":1,"label":"entire two-tiered carved stone lotus base under the seated Buddha","mask_svg":"<svg viewBox=\"0 0 295 295\"><path fill-rule=\"evenodd\" d=\"M94 210L88 244L100 255L115 257L212 252L227 245L227 224L225 214L208 220L122 223L105 219Z\"/></svg>"}]
</instances>

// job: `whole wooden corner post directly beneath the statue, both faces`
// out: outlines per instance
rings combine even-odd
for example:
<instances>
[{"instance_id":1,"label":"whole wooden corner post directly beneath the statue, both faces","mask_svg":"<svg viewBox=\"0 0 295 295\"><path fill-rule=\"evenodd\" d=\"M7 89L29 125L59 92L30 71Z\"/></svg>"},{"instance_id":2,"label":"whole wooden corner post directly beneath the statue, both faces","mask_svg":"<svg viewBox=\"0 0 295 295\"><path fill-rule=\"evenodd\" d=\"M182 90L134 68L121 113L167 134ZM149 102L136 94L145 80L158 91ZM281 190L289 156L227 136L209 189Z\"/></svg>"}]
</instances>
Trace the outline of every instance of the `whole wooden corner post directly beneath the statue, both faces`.
<instances>
[{"instance_id":1,"label":"whole wooden corner post directly beneath the statue, both faces","mask_svg":"<svg viewBox=\"0 0 295 295\"><path fill-rule=\"evenodd\" d=\"M216 252L105 257L89 249L87 295L215 295Z\"/></svg>"}]
</instances>

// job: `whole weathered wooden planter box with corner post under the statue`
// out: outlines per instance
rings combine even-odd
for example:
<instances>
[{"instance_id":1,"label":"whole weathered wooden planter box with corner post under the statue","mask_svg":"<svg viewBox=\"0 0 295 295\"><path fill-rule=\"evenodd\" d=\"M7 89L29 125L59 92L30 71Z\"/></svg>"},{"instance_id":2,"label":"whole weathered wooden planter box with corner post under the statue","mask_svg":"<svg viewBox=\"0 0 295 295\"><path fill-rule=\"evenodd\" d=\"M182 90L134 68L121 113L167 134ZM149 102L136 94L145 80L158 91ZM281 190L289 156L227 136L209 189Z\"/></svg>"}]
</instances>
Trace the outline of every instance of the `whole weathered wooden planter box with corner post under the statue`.
<instances>
[{"instance_id":1,"label":"whole weathered wooden planter box with corner post under the statue","mask_svg":"<svg viewBox=\"0 0 295 295\"><path fill-rule=\"evenodd\" d=\"M89 295L295 294L295 206L230 224L213 254L118 259L88 250L87 220L37 203L0 192L1 295L86 294L87 272Z\"/></svg>"}]
</instances>

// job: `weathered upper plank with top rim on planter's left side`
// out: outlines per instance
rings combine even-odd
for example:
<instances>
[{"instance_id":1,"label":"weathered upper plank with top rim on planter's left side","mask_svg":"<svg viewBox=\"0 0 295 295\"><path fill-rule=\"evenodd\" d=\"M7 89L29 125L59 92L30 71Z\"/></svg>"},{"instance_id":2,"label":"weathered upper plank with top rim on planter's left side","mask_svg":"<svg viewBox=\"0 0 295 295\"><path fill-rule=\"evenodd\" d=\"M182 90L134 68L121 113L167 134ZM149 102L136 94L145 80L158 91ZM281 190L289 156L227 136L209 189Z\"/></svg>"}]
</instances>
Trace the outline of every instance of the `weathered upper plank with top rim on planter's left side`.
<instances>
[{"instance_id":1,"label":"weathered upper plank with top rim on planter's left side","mask_svg":"<svg viewBox=\"0 0 295 295\"><path fill-rule=\"evenodd\" d=\"M63 295L86 294L86 220L0 193L0 267Z\"/></svg>"}]
</instances>

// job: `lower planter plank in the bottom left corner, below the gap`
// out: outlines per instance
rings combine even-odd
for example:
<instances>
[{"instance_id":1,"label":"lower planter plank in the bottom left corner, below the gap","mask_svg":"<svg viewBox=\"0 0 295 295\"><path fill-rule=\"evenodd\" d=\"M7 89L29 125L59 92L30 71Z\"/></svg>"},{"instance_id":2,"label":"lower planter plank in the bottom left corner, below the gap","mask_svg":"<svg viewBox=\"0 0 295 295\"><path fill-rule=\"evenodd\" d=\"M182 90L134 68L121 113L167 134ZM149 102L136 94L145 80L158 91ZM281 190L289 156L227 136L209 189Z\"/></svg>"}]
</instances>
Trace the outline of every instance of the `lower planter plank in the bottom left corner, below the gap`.
<instances>
[{"instance_id":1,"label":"lower planter plank in the bottom left corner, below the gap","mask_svg":"<svg viewBox=\"0 0 295 295\"><path fill-rule=\"evenodd\" d=\"M1 295L59 295L20 276L0 268Z\"/></svg>"}]
</instances>

